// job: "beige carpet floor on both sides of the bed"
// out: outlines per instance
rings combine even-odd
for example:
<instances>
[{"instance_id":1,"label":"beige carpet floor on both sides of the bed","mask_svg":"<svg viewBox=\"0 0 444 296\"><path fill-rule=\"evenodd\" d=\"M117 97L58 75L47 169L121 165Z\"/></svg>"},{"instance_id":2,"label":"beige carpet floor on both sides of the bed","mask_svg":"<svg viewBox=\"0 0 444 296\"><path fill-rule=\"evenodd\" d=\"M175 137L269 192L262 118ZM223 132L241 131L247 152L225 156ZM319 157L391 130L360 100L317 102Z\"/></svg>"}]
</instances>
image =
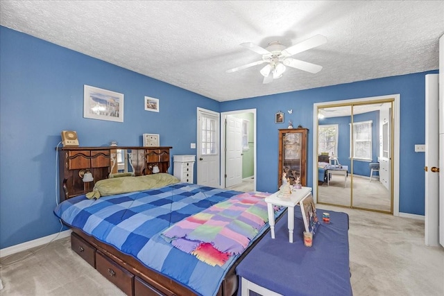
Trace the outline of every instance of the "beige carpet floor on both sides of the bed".
<instances>
[{"instance_id":1,"label":"beige carpet floor on both sides of the bed","mask_svg":"<svg viewBox=\"0 0 444 296\"><path fill-rule=\"evenodd\" d=\"M318 204L318 209L350 216L350 281L355 296L444 295L444 248L424 245L423 221L325 204ZM69 238L8 265L27 254L1 259L1 296L123 295L71 250Z\"/></svg>"}]
</instances>

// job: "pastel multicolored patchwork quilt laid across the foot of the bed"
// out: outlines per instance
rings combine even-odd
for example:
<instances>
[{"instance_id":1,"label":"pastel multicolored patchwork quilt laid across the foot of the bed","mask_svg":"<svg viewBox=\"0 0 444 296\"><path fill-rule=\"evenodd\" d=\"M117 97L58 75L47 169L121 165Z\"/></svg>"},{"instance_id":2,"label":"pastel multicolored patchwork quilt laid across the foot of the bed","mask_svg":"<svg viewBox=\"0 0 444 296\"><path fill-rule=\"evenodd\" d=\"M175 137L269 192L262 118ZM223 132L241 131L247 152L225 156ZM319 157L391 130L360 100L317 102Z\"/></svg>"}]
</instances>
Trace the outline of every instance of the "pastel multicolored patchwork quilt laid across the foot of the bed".
<instances>
[{"instance_id":1,"label":"pastel multicolored patchwork quilt laid across the foot of the bed","mask_svg":"<svg viewBox=\"0 0 444 296\"><path fill-rule=\"evenodd\" d=\"M268 222L264 198L269 193L243 193L219 202L169 227L162 235L178 249L212 266L244 252Z\"/></svg>"}]
</instances>

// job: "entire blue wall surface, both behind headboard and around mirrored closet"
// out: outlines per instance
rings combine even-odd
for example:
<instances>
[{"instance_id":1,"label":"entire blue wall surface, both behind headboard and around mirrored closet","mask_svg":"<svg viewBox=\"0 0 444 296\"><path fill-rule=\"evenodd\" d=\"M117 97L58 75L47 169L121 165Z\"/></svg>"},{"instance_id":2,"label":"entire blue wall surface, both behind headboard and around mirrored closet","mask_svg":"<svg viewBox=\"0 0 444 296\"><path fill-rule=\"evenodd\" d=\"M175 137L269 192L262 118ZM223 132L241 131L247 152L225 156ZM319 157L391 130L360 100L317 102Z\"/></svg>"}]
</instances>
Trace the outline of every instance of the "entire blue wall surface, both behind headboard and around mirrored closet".
<instances>
[{"instance_id":1,"label":"entire blue wall surface, both behind headboard and around mirrored closet","mask_svg":"<svg viewBox=\"0 0 444 296\"><path fill-rule=\"evenodd\" d=\"M196 154L189 148L196 143L196 107L257 109L257 189L271 192L278 186L278 128L287 128L289 120L311 128L316 102L399 93L400 211L424 214L424 154L413 148L425 141L426 73L219 103L3 26L0 64L0 249L60 229L53 209L61 130L76 130L80 146L108 146L113 140L141 146L143 133L158 133L173 155ZM124 122L84 119L83 85L124 94ZM144 110L144 96L160 99L159 113ZM289 109L293 114L276 124L275 112ZM308 145L312 159L311 132ZM307 183L312 184L311 162Z\"/></svg>"}]
</instances>

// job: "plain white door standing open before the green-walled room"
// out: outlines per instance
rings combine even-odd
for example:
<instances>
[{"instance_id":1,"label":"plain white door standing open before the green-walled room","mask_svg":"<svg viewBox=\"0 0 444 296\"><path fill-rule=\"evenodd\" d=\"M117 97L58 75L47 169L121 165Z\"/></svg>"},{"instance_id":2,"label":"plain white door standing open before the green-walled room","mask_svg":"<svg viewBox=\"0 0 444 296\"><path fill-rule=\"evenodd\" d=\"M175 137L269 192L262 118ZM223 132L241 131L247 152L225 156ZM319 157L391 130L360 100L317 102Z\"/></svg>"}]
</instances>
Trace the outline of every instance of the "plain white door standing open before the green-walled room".
<instances>
[{"instance_id":1,"label":"plain white door standing open before the green-walled room","mask_svg":"<svg viewBox=\"0 0 444 296\"><path fill-rule=\"evenodd\" d=\"M242 182L242 121L232 115L225 118L225 187Z\"/></svg>"}]
</instances>

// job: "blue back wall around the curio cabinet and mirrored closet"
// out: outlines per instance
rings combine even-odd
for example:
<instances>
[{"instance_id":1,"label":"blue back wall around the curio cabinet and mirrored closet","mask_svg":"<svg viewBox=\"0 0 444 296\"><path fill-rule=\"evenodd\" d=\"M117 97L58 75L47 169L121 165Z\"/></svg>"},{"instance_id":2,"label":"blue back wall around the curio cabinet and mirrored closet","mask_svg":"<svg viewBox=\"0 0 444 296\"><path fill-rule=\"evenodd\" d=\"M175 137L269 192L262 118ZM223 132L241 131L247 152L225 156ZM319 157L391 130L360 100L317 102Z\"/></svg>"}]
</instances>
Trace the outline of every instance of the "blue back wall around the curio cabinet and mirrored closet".
<instances>
[{"instance_id":1,"label":"blue back wall around the curio cabinet and mirrored closet","mask_svg":"<svg viewBox=\"0 0 444 296\"><path fill-rule=\"evenodd\" d=\"M425 75L428 73L438 71L223 102L220 111L257 108L257 190L273 192L278 186L278 129L287 128L289 120L295 127L302 125L310 129L313 127L314 103L400 94L399 211L424 215L424 153L415 153L414 145L425 143ZM275 124L275 112L289 109L293 109L293 114L285 114L285 123ZM312 131L308 137L308 159L312 159ZM312 172L309 161L308 186L313 186Z\"/></svg>"}]
</instances>

